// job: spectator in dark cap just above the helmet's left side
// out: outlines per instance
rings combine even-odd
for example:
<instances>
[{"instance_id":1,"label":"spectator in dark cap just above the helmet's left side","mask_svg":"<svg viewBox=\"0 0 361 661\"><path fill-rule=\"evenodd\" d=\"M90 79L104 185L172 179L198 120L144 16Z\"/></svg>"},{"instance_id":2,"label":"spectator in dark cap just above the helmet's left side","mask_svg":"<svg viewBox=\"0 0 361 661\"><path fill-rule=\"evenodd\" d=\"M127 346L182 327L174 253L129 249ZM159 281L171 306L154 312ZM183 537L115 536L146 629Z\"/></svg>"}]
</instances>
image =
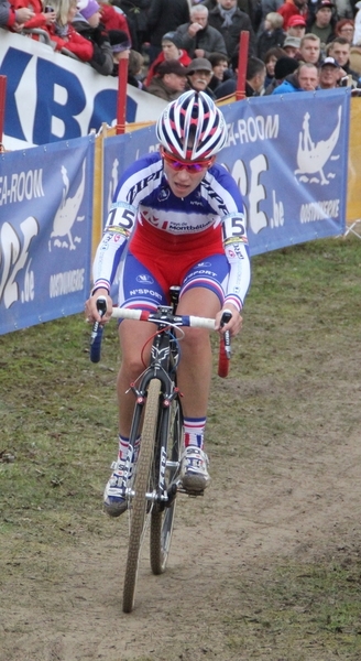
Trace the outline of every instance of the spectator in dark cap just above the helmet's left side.
<instances>
[{"instance_id":1,"label":"spectator in dark cap just above the helmet's left side","mask_svg":"<svg viewBox=\"0 0 361 661\"><path fill-rule=\"evenodd\" d=\"M178 59L166 59L157 67L151 85L146 91L165 101L174 101L185 90L187 84L187 69Z\"/></svg>"}]
</instances>

